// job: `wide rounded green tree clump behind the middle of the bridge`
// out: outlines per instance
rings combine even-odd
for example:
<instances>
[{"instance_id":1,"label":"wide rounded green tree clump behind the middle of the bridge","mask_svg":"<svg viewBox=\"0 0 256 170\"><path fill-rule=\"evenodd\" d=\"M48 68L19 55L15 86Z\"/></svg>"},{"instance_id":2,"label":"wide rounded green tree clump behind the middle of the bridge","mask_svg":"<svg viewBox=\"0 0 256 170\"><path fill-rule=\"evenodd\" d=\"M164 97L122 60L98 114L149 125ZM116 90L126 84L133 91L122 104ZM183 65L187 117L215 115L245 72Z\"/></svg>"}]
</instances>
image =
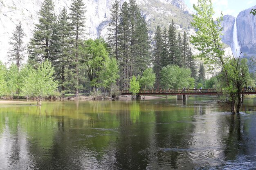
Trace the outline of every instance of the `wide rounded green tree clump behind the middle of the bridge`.
<instances>
[{"instance_id":1,"label":"wide rounded green tree clump behind the middle of the bridge","mask_svg":"<svg viewBox=\"0 0 256 170\"><path fill-rule=\"evenodd\" d=\"M177 65L169 65L162 68L161 85L164 89L177 89L189 87L191 83L191 71L189 68L180 68Z\"/></svg>"}]
</instances>

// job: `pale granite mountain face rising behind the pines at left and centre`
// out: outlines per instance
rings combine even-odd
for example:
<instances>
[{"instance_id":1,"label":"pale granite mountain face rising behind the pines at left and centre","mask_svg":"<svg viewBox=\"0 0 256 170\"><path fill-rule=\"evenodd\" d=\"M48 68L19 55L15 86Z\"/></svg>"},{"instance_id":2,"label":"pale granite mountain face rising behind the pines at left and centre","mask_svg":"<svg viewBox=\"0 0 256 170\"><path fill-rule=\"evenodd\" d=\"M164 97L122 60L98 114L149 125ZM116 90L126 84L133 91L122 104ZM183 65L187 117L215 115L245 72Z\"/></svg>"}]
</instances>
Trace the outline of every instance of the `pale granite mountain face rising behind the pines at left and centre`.
<instances>
[{"instance_id":1,"label":"pale granite mountain face rising behind the pines at left and centre","mask_svg":"<svg viewBox=\"0 0 256 170\"><path fill-rule=\"evenodd\" d=\"M63 8L68 9L71 0L53 0L58 15ZM106 37L110 8L114 0L83 0L86 5L85 38ZM128 0L121 0L120 5ZM9 39L19 21L22 22L25 44L32 37L34 23L38 22L38 11L43 0L0 0L0 60L6 61L9 51ZM156 25L167 26L173 19L181 27L189 28L192 20L191 11L184 0L137 0L141 13L148 21L153 33ZM87 37L86 37L87 36Z\"/></svg>"}]
</instances>

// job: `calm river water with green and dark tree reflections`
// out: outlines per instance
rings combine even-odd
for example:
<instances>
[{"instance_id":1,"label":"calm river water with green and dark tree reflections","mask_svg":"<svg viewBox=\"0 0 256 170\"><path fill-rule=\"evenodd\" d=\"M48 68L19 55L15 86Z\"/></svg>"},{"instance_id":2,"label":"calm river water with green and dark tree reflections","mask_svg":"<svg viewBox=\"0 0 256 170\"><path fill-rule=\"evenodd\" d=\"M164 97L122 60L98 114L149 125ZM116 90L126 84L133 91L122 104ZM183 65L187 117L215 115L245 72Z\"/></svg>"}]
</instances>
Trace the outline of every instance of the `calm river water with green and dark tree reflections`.
<instances>
[{"instance_id":1,"label":"calm river water with green and dark tree reflections","mask_svg":"<svg viewBox=\"0 0 256 170\"><path fill-rule=\"evenodd\" d=\"M0 105L0 170L255 170L256 100Z\"/></svg>"}]
</instances>

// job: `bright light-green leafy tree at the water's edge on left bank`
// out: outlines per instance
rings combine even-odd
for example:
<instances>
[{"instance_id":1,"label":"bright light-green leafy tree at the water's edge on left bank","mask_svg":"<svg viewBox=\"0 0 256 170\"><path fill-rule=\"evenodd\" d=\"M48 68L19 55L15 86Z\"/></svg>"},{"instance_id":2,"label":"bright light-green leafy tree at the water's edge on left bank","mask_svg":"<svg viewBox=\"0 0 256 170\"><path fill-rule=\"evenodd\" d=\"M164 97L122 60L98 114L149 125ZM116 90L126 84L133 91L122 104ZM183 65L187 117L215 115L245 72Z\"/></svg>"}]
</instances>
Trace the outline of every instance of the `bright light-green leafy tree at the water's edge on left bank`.
<instances>
[{"instance_id":1,"label":"bright light-green leafy tree at the water's edge on left bank","mask_svg":"<svg viewBox=\"0 0 256 170\"><path fill-rule=\"evenodd\" d=\"M31 69L22 87L22 95L35 97L41 105L41 98L52 95L58 84L54 81L54 69L51 62L46 60L40 64L37 70Z\"/></svg>"}]
</instances>

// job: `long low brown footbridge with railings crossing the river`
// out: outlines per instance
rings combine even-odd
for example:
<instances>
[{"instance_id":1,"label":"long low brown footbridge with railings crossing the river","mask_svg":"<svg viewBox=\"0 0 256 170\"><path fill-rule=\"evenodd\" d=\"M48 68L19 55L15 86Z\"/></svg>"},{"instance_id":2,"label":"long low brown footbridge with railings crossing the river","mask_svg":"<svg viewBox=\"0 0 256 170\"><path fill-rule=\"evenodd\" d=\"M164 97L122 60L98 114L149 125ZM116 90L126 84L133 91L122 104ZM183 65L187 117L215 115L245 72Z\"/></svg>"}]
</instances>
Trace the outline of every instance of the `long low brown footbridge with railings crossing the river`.
<instances>
[{"instance_id":1,"label":"long low brown footbridge with railings crossing the river","mask_svg":"<svg viewBox=\"0 0 256 170\"><path fill-rule=\"evenodd\" d=\"M216 88L208 89L184 89L184 90L140 90L137 95L218 95ZM245 94L256 94L256 88L246 90ZM129 91L122 91L121 95L131 95Z\"/></svg>"}]
</instances>

